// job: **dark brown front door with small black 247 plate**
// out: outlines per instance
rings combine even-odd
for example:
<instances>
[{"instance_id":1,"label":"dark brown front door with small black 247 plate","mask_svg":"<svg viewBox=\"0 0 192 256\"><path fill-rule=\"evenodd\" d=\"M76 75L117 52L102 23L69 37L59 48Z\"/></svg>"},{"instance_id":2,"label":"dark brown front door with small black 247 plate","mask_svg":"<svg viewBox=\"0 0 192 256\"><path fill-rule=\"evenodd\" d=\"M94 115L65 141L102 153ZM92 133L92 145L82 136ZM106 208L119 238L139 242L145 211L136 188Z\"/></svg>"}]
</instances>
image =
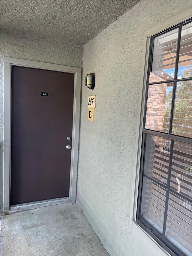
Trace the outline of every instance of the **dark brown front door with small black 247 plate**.
<instances>
[{"instance_id":1,"label":"dark brown front door with small black 247 plate","mask_svg":"<svg viewBox=\"0 0 192 256\"><path fill-rule=\"evenodd\" d=\"M74 74L12 67L10 204L69 196Z\"/></svg>"}]
</instances>

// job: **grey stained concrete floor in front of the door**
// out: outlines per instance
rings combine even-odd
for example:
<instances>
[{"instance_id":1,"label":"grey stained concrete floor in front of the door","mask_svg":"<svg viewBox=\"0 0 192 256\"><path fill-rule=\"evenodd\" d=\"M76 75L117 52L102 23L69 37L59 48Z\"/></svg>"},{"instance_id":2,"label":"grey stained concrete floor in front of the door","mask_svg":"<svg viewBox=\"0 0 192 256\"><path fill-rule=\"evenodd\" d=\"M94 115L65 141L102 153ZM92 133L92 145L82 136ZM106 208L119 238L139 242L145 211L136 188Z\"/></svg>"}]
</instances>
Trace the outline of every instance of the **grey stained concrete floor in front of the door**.
<instances>
[{"instance_id":1,"label":"grey stained concrete floor in front of the door","mask_svg":"<svg viewBox=\"0 0 192 256\"><path fill-rule=\"evenodd\" d=\"M109 256L76 203L1 218L0 255Z\"/></svg>"}]
</instances>

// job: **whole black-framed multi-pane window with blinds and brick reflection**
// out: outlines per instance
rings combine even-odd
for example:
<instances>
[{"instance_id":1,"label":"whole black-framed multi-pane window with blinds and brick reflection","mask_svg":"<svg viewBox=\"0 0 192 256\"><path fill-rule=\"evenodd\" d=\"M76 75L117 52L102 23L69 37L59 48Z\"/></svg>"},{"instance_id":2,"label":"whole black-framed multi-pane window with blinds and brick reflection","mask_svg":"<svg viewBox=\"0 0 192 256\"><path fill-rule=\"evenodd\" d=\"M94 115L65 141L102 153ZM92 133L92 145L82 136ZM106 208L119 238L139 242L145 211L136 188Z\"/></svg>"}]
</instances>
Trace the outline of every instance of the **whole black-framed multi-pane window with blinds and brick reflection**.
<instances>
[{"instance_id":1,"label":"whole black-framed multi-pane window with blinds and brick reflection","mask_svg":"<svg viewBox=\"0 0 192 256\"><path fill-rule=\"evenodd\" d=\"M137 222L171 255L192 252L191 20L150 38Z\"/></svg>"}]
</instances>

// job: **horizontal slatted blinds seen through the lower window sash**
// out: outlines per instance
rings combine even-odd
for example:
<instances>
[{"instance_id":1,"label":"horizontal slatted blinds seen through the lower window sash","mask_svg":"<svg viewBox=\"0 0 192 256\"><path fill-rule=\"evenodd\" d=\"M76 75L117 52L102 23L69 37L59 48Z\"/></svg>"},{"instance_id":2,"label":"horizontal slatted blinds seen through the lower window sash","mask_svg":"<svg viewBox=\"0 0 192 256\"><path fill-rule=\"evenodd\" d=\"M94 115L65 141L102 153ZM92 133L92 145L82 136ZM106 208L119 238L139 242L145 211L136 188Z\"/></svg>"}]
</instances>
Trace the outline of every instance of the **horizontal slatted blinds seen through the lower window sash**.
<instances>
[{"instance_id":1,"label":"horizontal slatted blinds seen through the lower window sash","mask_svg":"<svg viewBox=\"0 0 192 256\"><path fill-rule=\"evenodd\" d=\"M145 146L148 150L145 152L140 216L162 233L166 214L165 237L188 255L192 239L192 149L187 143L179 141L172 143L174 145L170 187L168 187L172 191L169 194L166 213L171 141L146 134Z\"/></svg>"}]
</instances>

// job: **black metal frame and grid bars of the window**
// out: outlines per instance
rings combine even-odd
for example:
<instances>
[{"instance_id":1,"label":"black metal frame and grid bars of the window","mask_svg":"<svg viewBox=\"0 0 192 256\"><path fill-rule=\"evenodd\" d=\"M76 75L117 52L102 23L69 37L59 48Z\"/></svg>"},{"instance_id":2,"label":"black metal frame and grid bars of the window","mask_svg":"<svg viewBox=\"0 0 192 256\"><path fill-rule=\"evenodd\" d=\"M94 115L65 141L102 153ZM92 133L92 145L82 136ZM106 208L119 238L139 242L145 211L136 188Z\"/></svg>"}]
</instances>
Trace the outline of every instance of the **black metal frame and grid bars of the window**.
<instances>
[{"instance_id":1,"label":"black metal frame and grid bars of the window","mask_svg":"<svg viewBox=\"0 0 192 256\"><path fill-rule=\"evenodd\" d=\"M144 103L144 116L143 116L143 130L142 130L142 143L141 143L141 154L140 154L140 173L139 173L139 187L138 187L138 197L137 197L137 212L136 212L136 222L145 230L162 248L164 248L169 254L173 256L183 256L183 253L177 249L173 244L171 244L163 234L165 234L165 228L166 228L166 220L164 221L164 230L163 234L158 233L157 230L155 230L152 225L150 225L148 222L146 222L141 216L141 199L142 199L142 186L143 186L143 177L144 174L144 159L145 159L145 152L146 152L146 137L147 134L164 137L165 139L171 140L171 148L170 148L170 165L169 165L169 173L168 173L168 179L167 179L167 186L162 185L160 182L156 182L158 185L163 186L163 188L166 189L166 202L165 202L165 212L164 217L167 219L167 210L168 210L168 199L169 199L169 193L173 192L169 185L170 185L170 178L171 178L171 164L172 164L172 157L173 157L173 146L174 146L174 140L184 142L184 143L192 143L192 139L189 137L183 137L179 135L174 135L171 133L172 131L172 124L173 124L173 112L174 112L174 101L175 101L175 95L176 95L176 84L180 81L188 81L192 80L192 77L188 78L181 78L178 79L178 65L179 65L179 50L180 50L180 41L181 41L181 33L182 33L182 26L188 23L192 22L192 18L185 20L181 23L178 23L169 29L166 29L160 33L157 33L149 38L149 59L148 59L148 65L147 65L147 77L146 77L146 88L145 88L145 103ZM149 85L153 84L161 84L165 83L165 81L159 81L159 82L153 82L149 83L149 75L152 71L152 61L153 61L153 45L154 45L154 38L160 35L163 35L167 32L172 31L173 29L178 28L178 41L177 41L177 54L176 54L176 64L175 64L175 73L173 80L169 81L169 83L173 83L173 97L172 97L172 108L171 108L171 116L170 116L170 127L169 127L169 133L161 132L161 131L154 131L150 129L145 128L145 122L146 122L146 110L147 110L147 97L148 97L148 87ZM149 179L149 176L147 177ZM152 179L151 179L152 180ZM153 181L153 180L152 180ZM174 191L174 194L177 194L176 191ZM186 199L184 196L179 194L180 197L183 197L183 199ZM192 203L192 200L187 199L190 203ZM165 219L164 218L164 219Z\"/></svg>"}]
</instances>

